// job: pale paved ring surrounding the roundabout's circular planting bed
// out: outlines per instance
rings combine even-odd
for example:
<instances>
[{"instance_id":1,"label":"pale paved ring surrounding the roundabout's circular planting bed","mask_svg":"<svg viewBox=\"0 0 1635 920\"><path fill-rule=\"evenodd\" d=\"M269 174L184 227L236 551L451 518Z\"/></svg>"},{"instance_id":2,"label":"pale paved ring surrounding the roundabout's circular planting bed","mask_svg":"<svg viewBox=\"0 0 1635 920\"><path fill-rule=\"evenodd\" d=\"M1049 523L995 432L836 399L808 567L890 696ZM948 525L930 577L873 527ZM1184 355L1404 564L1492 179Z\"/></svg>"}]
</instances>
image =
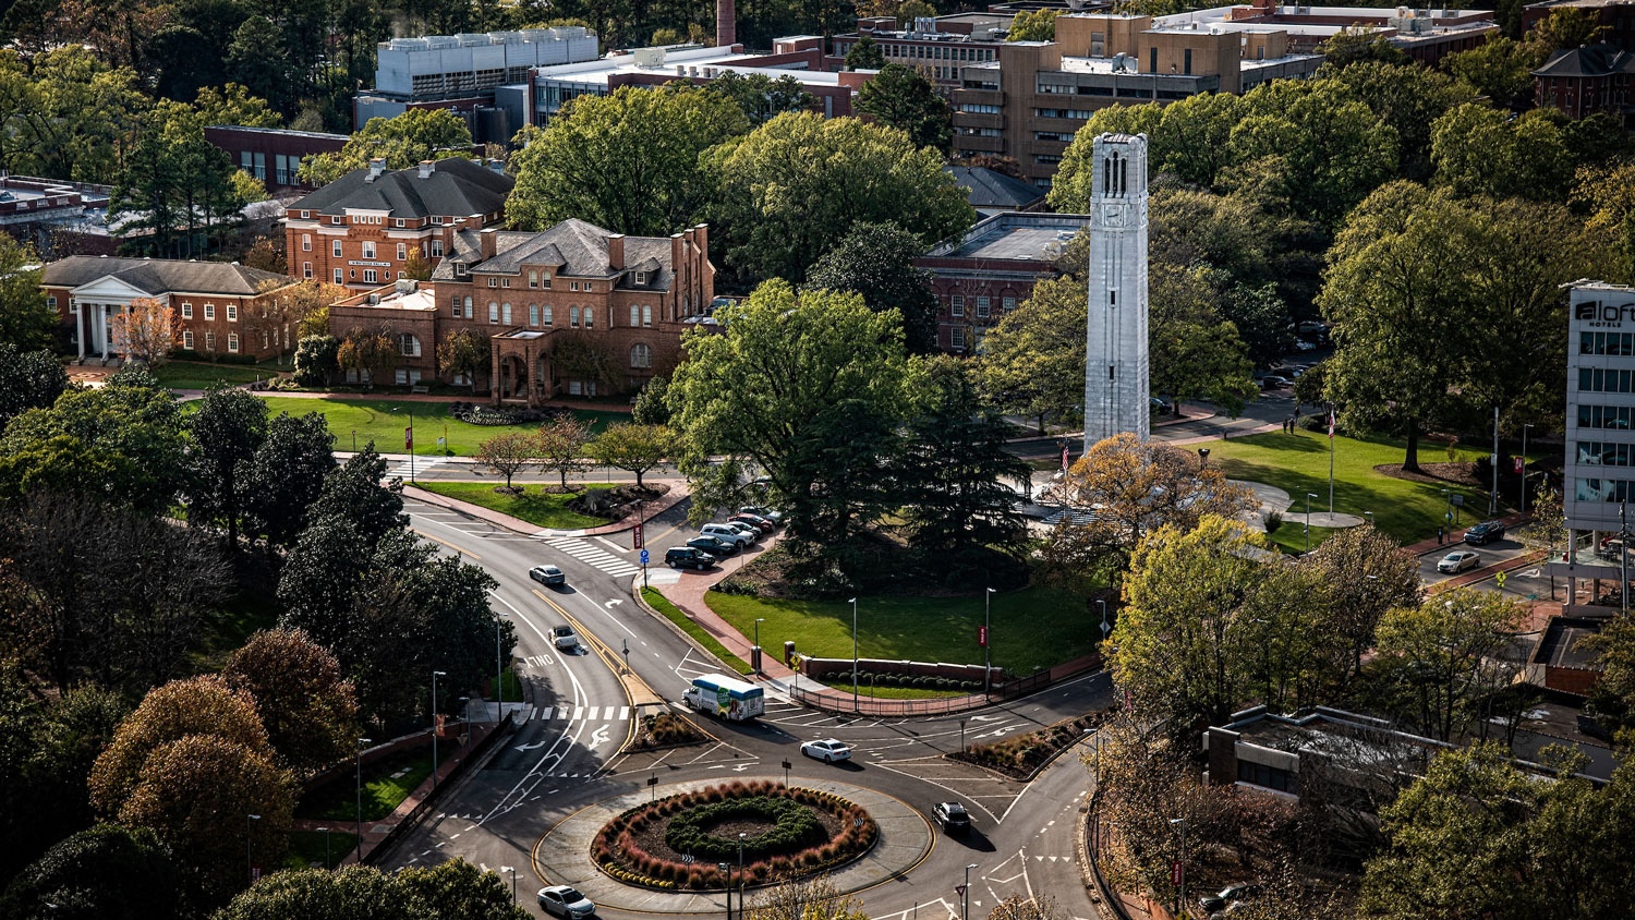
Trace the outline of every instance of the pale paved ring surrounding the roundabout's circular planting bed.
<instances>
[{"instance_id":1,"label":"pale paved ring surrounding the roundabout's circular planting bed","mask_svg":"<svg viewBox=\"0 0 1635 920\"><path fill-rule=\"evenodd\" d=\"M759 781L773 783L772 778ZM746 779L744 784L755 786L757 779ZM597 838L621 815L633 812L633 809L643 809L656 799L703 793L721 786L719 779L677 783L651 791L626 793L587 806L562 819L535 843L533 871L546 884L574 886L598 909L638 913L718 913L726 907L726 894L719 886L714 891L675 891L618 881L597 866ZM782 784L777 786L782 788ZM893 796L832 779L801 783L793 791L800 793L801 789L821 793L819 797L826 801L832 801L827 799L832 796L857 806L867 812L865 820L871 820L876 828L873 845L867 851L829 873L829 881L840 892L860 892L901 878L924 861L932 850L935 835L930 824L916 809ZM801 797L814 799L813 796ZM855 812L840 814L855 815ZM736 873L736 858L729 861L734 863ZM710 874L713 876L714 871L711 869ZM760 874L770 873L762 871ZM749 892L754 897L754 876Z\"/></svg>"}]
</instances>

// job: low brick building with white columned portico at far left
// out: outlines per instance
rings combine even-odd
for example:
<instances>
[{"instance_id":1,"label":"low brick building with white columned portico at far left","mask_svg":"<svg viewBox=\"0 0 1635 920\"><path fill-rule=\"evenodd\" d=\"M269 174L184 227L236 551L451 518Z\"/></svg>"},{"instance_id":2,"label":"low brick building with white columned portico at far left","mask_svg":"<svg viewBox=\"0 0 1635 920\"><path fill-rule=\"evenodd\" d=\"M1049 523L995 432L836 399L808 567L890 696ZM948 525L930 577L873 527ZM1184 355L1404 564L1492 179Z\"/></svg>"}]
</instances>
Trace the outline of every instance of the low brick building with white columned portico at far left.
<instances>
[{"instance_id":1,"label":"low brick building with white columned portico at far left","mask_svg":"<svg viewBox=\"0 0 1635 920\"><path fill-rule=\"evenodd\" d=\"M273 283L268 293L262 286ZM46 265L41 288L80 361L119 356L114 317L139 297L175 310L177 343L208 358L273 356L289 328L253 322L257 301L294 278L224 261L72 255Z\"/></svg>"}]
</instances>

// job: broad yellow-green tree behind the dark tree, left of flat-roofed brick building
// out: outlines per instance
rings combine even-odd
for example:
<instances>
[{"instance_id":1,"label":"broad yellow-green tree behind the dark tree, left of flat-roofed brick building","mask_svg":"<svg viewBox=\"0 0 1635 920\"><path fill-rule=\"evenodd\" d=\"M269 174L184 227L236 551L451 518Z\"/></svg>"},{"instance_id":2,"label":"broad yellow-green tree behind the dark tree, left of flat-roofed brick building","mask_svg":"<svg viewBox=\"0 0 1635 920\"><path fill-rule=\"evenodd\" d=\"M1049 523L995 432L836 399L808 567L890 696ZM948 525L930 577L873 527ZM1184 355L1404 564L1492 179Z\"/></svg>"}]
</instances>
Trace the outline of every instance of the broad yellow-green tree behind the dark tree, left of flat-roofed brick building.
<instances>
[{"instance_id":1,"label":"broad yellow-green tree behind the dark tree, left of flat-roofed brick building","mask_svg":"<svg viewBox=\"0 0 1635 920\"><path fill-rule=\"evenodd\" d=\"M752 278L804 281L857 222L894 221L929 247L976 221L940 155L852 118L780 114L716 149L711 168L706 212L723 229L726 261Z\"/></svg>"}]
</instances>

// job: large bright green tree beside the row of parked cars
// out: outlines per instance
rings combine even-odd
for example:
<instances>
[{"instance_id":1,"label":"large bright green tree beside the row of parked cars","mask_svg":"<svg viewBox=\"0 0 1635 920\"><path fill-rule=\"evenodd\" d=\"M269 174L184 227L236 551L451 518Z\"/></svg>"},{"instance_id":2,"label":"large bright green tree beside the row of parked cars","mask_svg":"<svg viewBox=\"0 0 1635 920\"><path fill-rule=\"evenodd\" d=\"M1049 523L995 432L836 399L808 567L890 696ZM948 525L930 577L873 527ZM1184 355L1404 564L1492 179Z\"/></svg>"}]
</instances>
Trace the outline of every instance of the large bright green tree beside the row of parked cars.
<instances>
[{"instance_id":1,"label":"large bright green tree beside the row of parked cars","mask_svg":"<svg viewBox=\"0 0 1635 920\"><path fill-rule=\"evenodd\" d=\"M901 319L783 281L718 315L726 333L688 332L670 382L692 513L741 505L759 469L793 536L845 541L896 503L883 474L911 392Z\"/></svg>"}]
</instances>

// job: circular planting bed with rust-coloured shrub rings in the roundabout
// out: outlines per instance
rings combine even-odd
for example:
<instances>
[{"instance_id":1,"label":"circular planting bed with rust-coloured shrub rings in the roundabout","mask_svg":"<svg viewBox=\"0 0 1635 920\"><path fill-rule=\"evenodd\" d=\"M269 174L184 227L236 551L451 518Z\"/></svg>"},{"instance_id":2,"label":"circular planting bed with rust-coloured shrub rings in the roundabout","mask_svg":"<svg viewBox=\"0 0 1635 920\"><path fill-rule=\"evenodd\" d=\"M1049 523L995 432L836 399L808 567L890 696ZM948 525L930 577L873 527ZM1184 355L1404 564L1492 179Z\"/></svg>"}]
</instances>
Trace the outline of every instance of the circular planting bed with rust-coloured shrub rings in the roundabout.
<instances>
[{"instance_id":1,"label":"circular planting bed with rust-coloured shrub rings in the roundabout","mask_svg":"<svg viewBox=\"0 0 1635 920\"><path fill-rule=\"evenodd\" d=\"M636 806L610 820L590 845L608 876L664 891L737 884L739 833L749 886L821 873L862 856L880 838L860 806L818 789L770 779L728 783ZM688 861L690 858L690 861Z\"/></svg>"}]
</instances>

